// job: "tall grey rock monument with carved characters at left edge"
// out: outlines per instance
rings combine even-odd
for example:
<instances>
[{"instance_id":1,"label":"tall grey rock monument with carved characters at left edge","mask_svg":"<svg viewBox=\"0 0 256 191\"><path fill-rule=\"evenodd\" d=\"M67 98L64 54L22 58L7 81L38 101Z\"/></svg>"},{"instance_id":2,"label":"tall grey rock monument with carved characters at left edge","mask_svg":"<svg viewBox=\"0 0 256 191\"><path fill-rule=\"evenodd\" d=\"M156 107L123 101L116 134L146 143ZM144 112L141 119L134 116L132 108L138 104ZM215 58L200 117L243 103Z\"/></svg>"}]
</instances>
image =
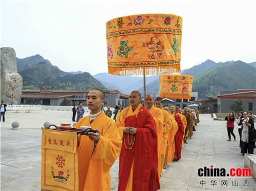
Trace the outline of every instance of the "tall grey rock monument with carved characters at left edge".
<instances>
[{"instance_id":1,"label":"tall grey rock monument with carved characters at left edge","mask_svg":"<svg viewBox=\"0 0 256 191\"><path fill-rule=\"evenodd\" d=\"M20 104L23 79L17 73L16 53L11 47L1 48L1 97L8 104Z\"/></svg>"}]
</instances>

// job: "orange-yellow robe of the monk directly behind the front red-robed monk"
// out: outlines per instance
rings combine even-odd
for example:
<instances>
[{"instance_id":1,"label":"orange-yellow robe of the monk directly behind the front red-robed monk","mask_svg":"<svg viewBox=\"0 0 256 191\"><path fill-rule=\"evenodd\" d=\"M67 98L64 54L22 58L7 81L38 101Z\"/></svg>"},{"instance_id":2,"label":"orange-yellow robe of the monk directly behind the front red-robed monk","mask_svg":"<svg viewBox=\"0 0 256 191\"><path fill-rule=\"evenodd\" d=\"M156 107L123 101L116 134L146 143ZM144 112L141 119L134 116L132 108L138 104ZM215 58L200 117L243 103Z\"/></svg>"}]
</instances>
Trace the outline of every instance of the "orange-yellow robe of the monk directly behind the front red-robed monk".
<instances>
[{"instance_id":1,"label":"orange-yellow robe of the monk directly behind the front red-robed monk","mask_svg":"<svg viewBox=\"0 0 256 191\"><path fill-rule=\"evenodd\" d=\"M163 147L163 113L162 110L155 107L154 105L150 108L150 113L152 114L157 129L157 151L158 151L158 166L157 172L160 180L161 171L163 166L161 167L161 152Z\"/></svg>"}]
</instances>

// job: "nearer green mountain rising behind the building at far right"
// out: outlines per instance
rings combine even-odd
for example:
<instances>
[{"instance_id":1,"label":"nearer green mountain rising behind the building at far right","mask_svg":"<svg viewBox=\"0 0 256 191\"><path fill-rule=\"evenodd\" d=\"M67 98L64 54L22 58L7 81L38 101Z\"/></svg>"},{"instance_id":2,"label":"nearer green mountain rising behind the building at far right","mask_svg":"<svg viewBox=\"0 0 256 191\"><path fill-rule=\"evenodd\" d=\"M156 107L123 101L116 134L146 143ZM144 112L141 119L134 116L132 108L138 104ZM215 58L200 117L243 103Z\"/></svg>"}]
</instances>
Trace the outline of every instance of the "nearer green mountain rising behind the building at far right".
<instances>
[{"instance_id":1,"label":"nearer green mountain rising behind the building at far right","mask_svg":"<svg viewBox=\"0 0 256 191\"><path fill-rule=\"evenodd\" d=\"M255 89L255 76L255 68L239 60L212 69L194 80L193 91L198 91L199 98L207 98L211 94L211 86L214 97L219 91Z\"/></svg>"}]
</instances>

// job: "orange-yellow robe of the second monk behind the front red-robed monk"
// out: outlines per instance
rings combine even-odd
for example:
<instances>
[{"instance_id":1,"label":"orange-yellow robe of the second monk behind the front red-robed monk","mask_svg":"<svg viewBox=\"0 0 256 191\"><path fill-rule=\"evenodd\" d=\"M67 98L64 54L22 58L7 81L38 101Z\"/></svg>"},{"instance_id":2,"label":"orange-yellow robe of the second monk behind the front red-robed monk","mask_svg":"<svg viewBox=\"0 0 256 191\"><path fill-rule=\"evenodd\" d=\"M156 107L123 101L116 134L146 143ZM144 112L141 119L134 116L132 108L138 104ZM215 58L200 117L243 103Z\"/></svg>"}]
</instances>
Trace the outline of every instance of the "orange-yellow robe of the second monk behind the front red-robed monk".
<instances>
[{"instance_id":1,"label":"orange-yellow robe of the second monk behind the front red-robed monk","mask_svg":"<svg viewBox=\"0 0 256 191\"><path fill-rule=\"evenodd\" d=\"M163 113L163 123L165 124L163 126L163 147L161 148L161 173L163 170L163 164L164 164L164 157L166 154L166 147L167 147L167 139L170 129L172 128L172 122L170 121L170 116L167 111L165 111L163 108L161 109Z\"/></svg>"}]
</instances>

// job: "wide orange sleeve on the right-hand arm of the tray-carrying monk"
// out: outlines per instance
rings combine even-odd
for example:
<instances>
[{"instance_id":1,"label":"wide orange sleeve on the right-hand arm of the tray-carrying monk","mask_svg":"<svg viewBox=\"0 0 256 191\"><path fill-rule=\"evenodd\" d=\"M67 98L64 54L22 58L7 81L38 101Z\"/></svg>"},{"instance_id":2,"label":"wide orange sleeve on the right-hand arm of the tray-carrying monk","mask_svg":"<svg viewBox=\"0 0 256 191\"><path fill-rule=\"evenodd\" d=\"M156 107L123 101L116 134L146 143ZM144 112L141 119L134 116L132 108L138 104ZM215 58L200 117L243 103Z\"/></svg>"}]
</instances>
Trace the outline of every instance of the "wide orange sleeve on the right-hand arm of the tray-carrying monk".
<instances>
[{"instance_id":1,"label":"wide orange sleeve on the right-hand arm of the tray-carrying monk","mask_svg":"<svg viewBox=\"0 0 256 191\"><path fill-rule=\"evenodd\" d=\"M114 122L109 122L105 126L108 126L108 130L100 135L92 160L102 161L104 168L110 169L120 154L122 140Z\"/></svg>"}]
</instances>

